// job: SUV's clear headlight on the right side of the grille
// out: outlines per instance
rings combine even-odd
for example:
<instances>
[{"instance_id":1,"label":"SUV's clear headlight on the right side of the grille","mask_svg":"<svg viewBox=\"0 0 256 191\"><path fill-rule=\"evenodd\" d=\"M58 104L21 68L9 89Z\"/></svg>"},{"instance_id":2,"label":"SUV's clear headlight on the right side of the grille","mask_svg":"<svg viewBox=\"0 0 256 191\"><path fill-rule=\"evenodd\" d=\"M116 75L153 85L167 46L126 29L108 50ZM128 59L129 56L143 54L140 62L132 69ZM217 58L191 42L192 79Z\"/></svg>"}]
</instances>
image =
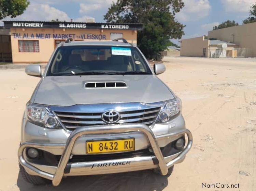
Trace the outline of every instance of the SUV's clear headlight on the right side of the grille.
<instances>
[{"instance_id":1,"label":"SUV's clear headlight on the right side of the grille","mask_svg":"<svg viewBox=\"0 0 256 191\"><path fill-rule=\"evenodd\" d=\"M158 123L168 122L171 117L181 112L181 108L182 108L182 104L181 104L180 98L176 98L175 100L172 100L172 101L167 101L163 105L162 110L160 111L157 122Z\"/></svg>"}]
</instances>

